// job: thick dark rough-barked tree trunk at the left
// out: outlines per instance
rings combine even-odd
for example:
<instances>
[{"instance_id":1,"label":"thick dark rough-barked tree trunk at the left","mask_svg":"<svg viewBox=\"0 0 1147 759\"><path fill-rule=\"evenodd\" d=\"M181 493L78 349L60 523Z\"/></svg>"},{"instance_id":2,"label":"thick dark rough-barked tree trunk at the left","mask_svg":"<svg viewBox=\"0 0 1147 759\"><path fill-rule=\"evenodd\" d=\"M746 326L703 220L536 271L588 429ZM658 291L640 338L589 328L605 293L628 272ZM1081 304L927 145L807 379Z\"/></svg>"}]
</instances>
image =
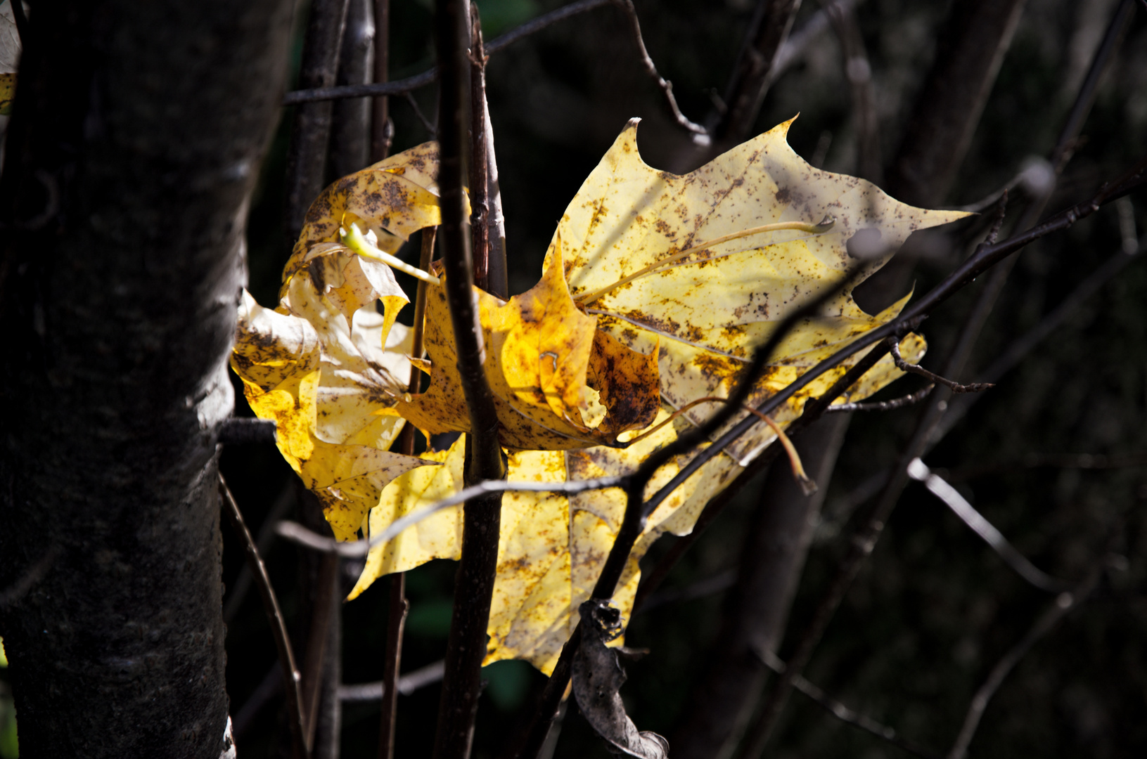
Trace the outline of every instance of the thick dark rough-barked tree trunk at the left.
<instances>
[{"instance_id":1,"label":"thick dark rough-barked tree trunk at the left","mask_svg":"<svg viewBox=\"0 0 1147 759\"><path fill-rule=\"evenodd\" d=\"M216 430L291 3L36 3L0 180L21 756L224 750Z\"/></svg>"}]
</instances>

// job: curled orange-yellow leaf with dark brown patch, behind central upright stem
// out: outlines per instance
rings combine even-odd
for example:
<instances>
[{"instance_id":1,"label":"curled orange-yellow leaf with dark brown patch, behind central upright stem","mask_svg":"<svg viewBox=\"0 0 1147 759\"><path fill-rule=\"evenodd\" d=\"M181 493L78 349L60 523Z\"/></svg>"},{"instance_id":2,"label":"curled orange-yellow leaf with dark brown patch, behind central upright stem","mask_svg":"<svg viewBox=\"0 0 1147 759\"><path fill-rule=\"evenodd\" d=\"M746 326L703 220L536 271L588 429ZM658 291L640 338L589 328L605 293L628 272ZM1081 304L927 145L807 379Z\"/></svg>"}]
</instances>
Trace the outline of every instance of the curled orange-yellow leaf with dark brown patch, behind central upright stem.
<instances>
[{"instance_id":1,"label":"curled orange-yellow leaf with dark brown patch, behind central upright stem","mask_svg":"<svg viewBox=\"0 0 1147 759\"><path fill-rule=\"evenodd\" d=\"M501 444L521 449L618 445L647 427L661 405L656 347L635 352L598 332L570 298L560 250L541 281L502 302L475 288ZM470 418L444 288L427 292L430 386L398 412L428 432L468 432Z\"/></svg>"}]
</instances>

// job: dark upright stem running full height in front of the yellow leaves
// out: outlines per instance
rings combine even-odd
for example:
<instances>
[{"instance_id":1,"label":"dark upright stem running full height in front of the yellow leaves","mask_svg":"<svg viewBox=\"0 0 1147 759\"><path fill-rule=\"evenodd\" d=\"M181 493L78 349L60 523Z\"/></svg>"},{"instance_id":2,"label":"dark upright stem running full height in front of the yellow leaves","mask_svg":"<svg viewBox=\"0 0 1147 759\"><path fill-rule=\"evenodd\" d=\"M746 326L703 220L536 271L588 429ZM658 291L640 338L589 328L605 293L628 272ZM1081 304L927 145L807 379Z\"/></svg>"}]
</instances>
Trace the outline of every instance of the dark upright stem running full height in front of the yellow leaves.
<instances>
[{"instance_id":1,"label":"dark upright stem running full height in front of the yellow leaves","mask_svg":"<svg viewBox=\"0 0 1147 759\"><path fill-rule=\"evenodd\" d=\"M437 0L435 42L442 76L439 131L442 158L438 173L442 203L443 258L446 296L454 328L458 369L470 415L467 436L466 483L501 479L498 414L483 369L485 346L478 323L473 285L473 263L466 234L463 198L467 130L469 127L469 7L465 0ZM454 611L438 729L436 759L465 759L474 737L481 683L478 673L486 652L486 625L498 562L501 494L466 502L462 518L462 556L454 582Z\"/></svg>"}]
</instances>

